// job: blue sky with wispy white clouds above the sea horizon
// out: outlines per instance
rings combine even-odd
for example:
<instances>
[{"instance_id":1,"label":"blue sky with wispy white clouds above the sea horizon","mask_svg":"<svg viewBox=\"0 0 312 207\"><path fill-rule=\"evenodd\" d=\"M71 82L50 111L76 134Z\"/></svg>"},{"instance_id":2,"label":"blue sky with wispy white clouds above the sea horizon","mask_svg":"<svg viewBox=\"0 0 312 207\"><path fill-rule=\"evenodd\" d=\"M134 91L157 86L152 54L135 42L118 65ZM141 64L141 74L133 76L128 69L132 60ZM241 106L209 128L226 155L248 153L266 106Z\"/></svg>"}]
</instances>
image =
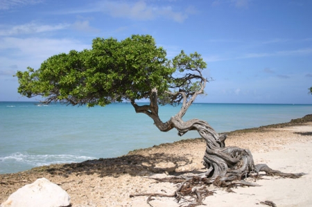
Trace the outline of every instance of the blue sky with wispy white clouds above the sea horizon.
<instances>
[{"instance_id":1,"label":"blue sky with wispy white clouds above the sea horizon","mask_svg":"<svg viewBox=\"0 0 312 207\"><path fill-rule=\"evenodd\" d=\"M22 101L16 71L90 48L95 37L152 35L172 58L197 51L197 102L312 104L312 1L0 1L0 101Z\"/></svg>"}]
</instances>

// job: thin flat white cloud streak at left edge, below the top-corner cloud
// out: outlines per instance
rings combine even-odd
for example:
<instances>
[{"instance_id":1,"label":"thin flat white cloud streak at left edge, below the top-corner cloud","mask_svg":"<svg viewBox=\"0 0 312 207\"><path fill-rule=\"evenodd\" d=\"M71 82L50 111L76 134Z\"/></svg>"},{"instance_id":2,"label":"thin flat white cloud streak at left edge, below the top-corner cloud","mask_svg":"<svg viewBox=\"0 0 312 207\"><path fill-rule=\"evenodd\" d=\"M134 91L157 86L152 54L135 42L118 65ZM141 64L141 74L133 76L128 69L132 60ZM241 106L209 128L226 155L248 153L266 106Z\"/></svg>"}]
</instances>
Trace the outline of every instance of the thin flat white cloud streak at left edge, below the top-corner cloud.
<instances>
[{"instance_id":1,"label":"thin flat white cloud streak at left edge, below the top-corner cloud","mask_svg":"<svg viewBox=\"0 0 312 207\"><path fill-rule=\"evenodd\" d=\"M69 24L57 24L55 26L51 26L51 25L40 25L31 22L28 24L12 26L11 28L8 29L1 29L0 36L26 35L32 33L51 32L54 30L62 30L64 28L67 28L68 26Z\"/></svg>"}]
</instances>

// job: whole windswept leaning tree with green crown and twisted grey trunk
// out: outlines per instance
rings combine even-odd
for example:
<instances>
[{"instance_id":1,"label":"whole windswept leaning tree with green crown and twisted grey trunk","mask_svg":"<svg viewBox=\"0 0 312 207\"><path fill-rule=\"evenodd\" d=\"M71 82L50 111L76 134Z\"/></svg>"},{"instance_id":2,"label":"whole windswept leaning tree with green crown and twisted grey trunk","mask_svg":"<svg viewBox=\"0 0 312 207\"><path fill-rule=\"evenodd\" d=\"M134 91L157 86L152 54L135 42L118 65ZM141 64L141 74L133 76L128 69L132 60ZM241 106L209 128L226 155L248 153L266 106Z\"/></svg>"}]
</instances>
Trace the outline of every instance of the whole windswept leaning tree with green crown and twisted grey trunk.
<instances>
[{"instance_id":1,"label":"whole windswept leaning tree with green crown and twisted grey trunk","mask_svg":"<svg viewBox=\"0 0 312 207\"><path fill-rule=\"evenodd\" d=\"M217 134L205 120L182 117L197 96L204 94L207 78L202 71L207 64L198 53L181 51L173 60L157 47L150 35L132 35L122 41L96 38L92 49L70 51L49 57L36 71L18 71L18 92L31 98L42 96L45 103L65 102L69 105L105 106L127 100L137 113L154 120L162 132L177 129L180 136L196 130L205 139L207 148L203 163L207 168L200 179L216 186L254 186L243 179L264 171L283 177L302 174L282 174L267 165L254 165L249 150L226 147L226 134ZM137 105L145 98L148 105ZM165 122L158 116L159 104L181 104L180 111ZM181 190L181 189L180 189ZM178 192L175 192L177 195Z\"/></svg>"}]
</instances>

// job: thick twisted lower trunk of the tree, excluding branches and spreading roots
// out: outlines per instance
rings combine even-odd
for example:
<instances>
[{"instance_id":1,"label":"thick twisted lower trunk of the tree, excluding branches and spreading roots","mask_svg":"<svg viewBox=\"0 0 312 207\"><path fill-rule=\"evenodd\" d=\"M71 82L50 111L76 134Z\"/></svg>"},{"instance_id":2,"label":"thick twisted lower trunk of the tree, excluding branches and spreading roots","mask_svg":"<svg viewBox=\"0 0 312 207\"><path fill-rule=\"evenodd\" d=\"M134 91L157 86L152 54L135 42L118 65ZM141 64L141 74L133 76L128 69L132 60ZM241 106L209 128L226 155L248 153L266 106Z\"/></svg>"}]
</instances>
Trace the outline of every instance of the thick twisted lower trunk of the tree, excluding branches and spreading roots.
<instances>
[{"instance_id":1,"label":"thick twisted lower trunk of the tree, excluding branches and spreading roots","mask_svg":"<svg viewBox=\"0 0 312 207\"><path fill-rule=\"evenodd\" d=\"M254 170L250 151L239 147L225 147L226 134L217 134L207 122L193 119L184 123L177 116L171 118L171 122L180 135L189 130L197 130L206 141L203 164L207 168L205 177L209 177L211 183L226 186L229 181L240 181Z\"/></svg>"}]
</instances>

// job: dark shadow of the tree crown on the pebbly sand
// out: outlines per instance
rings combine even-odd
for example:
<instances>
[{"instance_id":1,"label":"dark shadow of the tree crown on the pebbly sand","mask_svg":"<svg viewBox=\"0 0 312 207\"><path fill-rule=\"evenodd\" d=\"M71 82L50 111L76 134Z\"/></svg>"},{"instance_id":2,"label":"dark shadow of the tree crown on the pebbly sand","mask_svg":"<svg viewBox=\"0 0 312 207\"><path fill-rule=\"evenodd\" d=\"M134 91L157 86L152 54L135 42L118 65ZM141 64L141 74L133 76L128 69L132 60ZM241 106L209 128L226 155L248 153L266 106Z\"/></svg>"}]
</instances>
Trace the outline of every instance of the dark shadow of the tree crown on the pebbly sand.
<instances>
[{"instance_id":1,"label":"dark shadow of the tree crown on the pebbly sand","mask_svg":"<svg viewBox=\"0 0 312 207\"><path fill-rule=\"evenodd\" d=\"M153 173L171 173L176 168L191 163L192 161L187 157L173 154L156 153L149 156L132 154L111 159L88 160L82 163L49 165L41 170L64 177L68 177L69 174L98 174L99 177L119 177L123 174L146 176ZM33 168L33 170L40 169Z\"/></svg>"}]
</instances>

